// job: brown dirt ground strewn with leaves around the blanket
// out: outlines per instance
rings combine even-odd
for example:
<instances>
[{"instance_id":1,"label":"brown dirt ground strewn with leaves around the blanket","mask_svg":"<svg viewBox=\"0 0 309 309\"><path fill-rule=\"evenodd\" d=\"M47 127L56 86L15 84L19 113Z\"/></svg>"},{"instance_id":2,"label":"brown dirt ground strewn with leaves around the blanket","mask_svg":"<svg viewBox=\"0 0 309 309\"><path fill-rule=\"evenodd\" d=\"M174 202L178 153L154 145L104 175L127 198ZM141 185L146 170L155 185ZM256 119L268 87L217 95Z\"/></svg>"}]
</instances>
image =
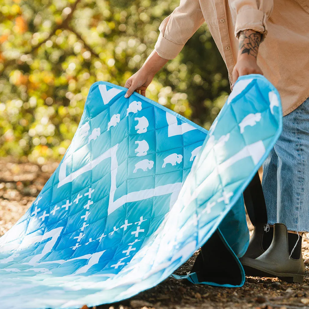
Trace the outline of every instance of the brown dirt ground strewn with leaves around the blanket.
<instances>
[{"instance_id":1,"label":"brown dirt ground strewn with leaves around the blanket","mask_svg":"<svg viewBox=\"0 0 309 309\"><path fill-rule=\"evenodd\" d=\"M57 165L49 163L39 166L9 158L0 159L0 235L8 231L31 206ZM252 225L249 229L252 230ZM309 258L307 239L303 241L303 257ZM191 258L179 271L188 271L193 262L194 259ZM309 308L308 271L309 268L306 266L303 284L285 283L277 278L247 277L241 288L194 285L187 280L167 278L158 286L131 299L117 304L97 306L96 309Z\"/></svg>"}]
</instances>

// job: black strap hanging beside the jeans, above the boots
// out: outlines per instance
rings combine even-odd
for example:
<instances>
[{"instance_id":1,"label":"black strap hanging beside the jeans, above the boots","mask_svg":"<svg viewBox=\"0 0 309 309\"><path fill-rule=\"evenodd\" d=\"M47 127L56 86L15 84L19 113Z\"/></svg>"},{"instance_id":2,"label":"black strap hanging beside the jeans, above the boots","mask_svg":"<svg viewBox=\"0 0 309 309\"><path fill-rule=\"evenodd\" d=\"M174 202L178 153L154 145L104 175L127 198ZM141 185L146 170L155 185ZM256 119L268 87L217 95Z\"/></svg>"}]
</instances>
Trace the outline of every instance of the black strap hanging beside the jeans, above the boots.
<instances>
[{"instance_id":1,"label":"black strap hanging beside the jeans, above the boots","mask_svg":"<svg viewBox=\"0 0 309 309\"><path fill-rule=\"evenodd\" d=\"M267 224L267 211L263 189L257 172L248 187L243 191L248 216L253 226Z\"/></svg>"}]
</instances>

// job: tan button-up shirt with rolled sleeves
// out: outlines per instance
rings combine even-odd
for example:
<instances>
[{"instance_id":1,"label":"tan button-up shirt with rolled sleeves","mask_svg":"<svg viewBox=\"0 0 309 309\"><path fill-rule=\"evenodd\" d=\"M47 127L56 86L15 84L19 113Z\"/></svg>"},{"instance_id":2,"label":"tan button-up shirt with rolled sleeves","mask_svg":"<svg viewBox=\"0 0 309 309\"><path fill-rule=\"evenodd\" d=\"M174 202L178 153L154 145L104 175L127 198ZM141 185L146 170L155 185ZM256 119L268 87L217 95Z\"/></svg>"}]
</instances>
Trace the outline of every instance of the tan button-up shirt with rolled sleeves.
<instances>
[{"instance_id":1,"label":"tan button-up shirt with rolled sleeves","mask_svg":"<svg viewBox=\"0 0 309 309\"><path fill-rule=\"evenodd\" d=\"M237 36L252 29L263 34L257 63L277 87L283 115L309 97L309 0L180 0L160 25L155 50L162 58L175 58L205 21L230 82Z\"/></svg>"}]
</instances>

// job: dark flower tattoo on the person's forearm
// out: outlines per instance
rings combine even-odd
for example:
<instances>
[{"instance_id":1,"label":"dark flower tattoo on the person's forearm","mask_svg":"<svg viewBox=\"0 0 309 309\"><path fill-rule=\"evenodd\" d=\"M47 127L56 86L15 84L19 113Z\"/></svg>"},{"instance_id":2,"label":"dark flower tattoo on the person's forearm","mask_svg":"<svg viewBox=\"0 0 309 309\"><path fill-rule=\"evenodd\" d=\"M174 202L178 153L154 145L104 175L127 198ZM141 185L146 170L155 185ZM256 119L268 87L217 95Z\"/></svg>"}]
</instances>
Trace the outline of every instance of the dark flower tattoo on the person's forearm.
<instances>
[{"instance_id":1,"label":"dark flower tattoo on the person's forearm","mask_svg":"<svg viewBox=\"0 0 309 309\"><path fill-rule=\"evenodd\" d=\"M239 52L257 57L262 34L253 30L239 32Z\"/></svg>"}]
</instances>

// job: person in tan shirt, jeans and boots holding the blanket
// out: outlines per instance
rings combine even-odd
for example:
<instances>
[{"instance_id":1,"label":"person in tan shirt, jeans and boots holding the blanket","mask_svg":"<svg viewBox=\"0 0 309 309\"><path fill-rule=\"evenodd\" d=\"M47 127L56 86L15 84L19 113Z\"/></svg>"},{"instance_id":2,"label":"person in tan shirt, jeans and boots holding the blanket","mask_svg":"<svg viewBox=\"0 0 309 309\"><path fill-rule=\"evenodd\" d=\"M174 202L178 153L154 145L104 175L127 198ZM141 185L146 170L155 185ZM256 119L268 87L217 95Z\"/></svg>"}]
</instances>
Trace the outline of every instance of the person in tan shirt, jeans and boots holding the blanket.
<instances>
[{"instance_id":1,"label":"person in tan shirt, jeans and boots holding the blanket","mask_svg":"<svg viewBox=\"0 0 309 309\"><path fill-rule=\"evenodd\" d=\"M155 49L125 83L146 95L155 74L206 22L226 63L239 76L264 74L277 87L281 136L263 164L268 229L254 227L246 274L303 281L301 232L309 231L309 4L306 0L180 0L161 23ZM207 59L205 59L207 61Z\"/></svg>"}]
</instances>

